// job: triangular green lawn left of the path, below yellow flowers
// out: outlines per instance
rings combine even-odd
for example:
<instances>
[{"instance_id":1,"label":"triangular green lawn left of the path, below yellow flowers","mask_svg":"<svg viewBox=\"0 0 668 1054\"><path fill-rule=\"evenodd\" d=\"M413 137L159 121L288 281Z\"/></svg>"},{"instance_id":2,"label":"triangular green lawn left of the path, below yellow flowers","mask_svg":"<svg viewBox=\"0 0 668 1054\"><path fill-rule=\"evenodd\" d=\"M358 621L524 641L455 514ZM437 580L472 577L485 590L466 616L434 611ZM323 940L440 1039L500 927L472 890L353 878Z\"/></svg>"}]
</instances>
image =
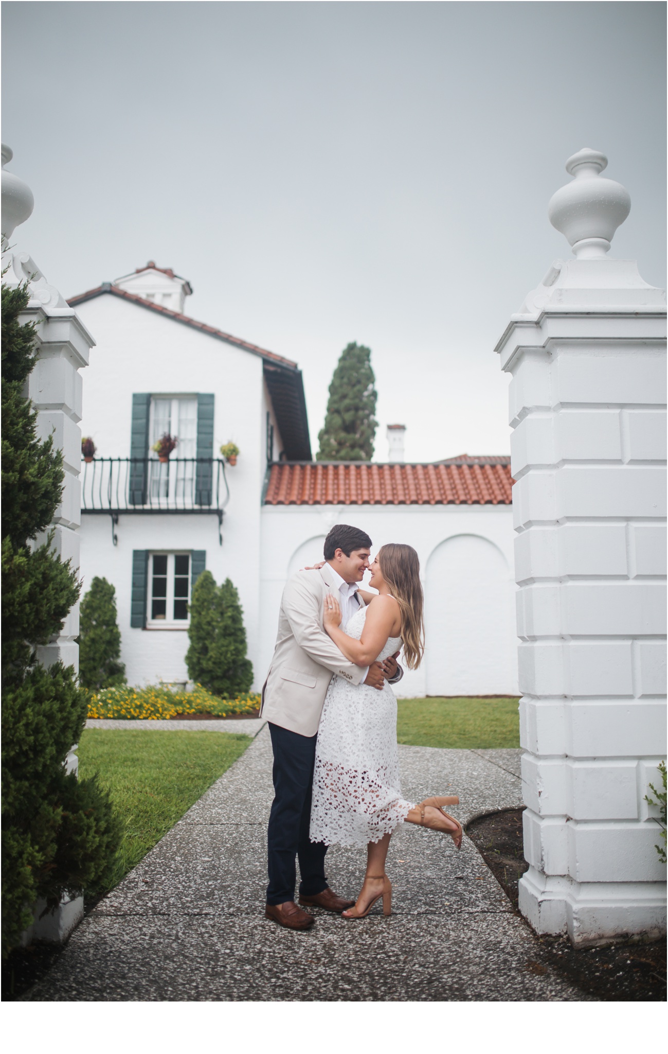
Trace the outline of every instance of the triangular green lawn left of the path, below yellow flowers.
<instances>
[{"instance_id":1,"label":"triangular green lawn left of the path, below yellow flowers","mask_svg":"<svg viewBox=\"0 0 668 1054\"><path fill-rule=\"evenodd\" d=\"M220 731L86 729L79 773L99 773L125 822L110 889L139 863L252 742Z\"/></svg>"}]
</instances>

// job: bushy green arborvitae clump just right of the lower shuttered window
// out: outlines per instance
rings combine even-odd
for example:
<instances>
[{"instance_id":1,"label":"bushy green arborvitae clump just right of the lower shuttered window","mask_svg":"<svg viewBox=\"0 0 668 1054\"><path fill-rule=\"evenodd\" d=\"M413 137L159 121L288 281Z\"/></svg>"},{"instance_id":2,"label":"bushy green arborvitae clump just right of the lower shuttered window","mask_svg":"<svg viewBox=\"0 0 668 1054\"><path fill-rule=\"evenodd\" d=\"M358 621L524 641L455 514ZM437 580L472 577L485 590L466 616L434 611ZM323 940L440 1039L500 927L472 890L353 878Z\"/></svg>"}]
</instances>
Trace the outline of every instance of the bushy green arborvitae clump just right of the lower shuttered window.
<instances>
[{"instance_id":1,"label":"bushy green arborvitae clump just right of the lower shuttered window","mask_svg":"<svg viewBox=\"0 0 668 1054\"><path fill-rule=\"evenodd\" d=\"M253 664L245 657L245 629L239 594L230 579L217 586L211 571L202 571L193 588L189 677L214 696L233 699L253 683Z\"/></svg>"}]
</instances>

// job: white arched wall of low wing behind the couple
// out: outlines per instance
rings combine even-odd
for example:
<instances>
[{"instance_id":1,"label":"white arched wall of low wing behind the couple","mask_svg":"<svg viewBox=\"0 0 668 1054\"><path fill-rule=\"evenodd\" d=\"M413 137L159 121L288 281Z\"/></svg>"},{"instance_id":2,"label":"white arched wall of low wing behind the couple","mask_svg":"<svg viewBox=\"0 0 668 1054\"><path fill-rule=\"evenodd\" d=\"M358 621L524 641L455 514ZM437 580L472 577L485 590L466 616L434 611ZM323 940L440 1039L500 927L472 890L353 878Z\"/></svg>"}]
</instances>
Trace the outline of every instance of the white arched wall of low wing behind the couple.
<instances>
[{"instance_id":1,"label":"white arched wall of low wing behind the couple","mask_svg":"<svg viewBox=\"0 0 668 1054\"><path fill-rule=\"evenodd\" d=\"M418 670L406 671L399 695L517 694L513 531L506 505L264 506L264 672L274 650L283 586L304 564L322 559L325 536L335 523L367 531L374 549L402 542L418 553L426 596L425 661Z\"/></svg>"}]
</instances>

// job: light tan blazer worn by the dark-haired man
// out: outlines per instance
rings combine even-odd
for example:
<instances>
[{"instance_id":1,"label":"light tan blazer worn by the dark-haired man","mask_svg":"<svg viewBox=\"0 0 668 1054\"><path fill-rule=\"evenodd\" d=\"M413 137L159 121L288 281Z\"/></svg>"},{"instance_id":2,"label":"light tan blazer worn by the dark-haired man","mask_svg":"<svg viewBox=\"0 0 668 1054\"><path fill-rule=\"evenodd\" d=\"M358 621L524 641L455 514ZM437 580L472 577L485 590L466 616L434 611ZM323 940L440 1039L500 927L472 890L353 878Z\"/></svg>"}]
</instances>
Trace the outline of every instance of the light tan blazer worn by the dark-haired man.
<instances>
[{"instance_id":1,"label":"light tan blazer worn by the dark-haired man","mask_svg":"<svg viewBox=\"0 0 668 1054\"><path fill-rule=\"evenodd\" d=\"M332 675L361 684L366 668L345 659L322 628L328 592L336 593L329 564L298 571L287 584L278 614L274 658L262 688L260 715L300 736L315 736ZM361 598L359 603L364 604Z\"/></svg>"}]
</instances>

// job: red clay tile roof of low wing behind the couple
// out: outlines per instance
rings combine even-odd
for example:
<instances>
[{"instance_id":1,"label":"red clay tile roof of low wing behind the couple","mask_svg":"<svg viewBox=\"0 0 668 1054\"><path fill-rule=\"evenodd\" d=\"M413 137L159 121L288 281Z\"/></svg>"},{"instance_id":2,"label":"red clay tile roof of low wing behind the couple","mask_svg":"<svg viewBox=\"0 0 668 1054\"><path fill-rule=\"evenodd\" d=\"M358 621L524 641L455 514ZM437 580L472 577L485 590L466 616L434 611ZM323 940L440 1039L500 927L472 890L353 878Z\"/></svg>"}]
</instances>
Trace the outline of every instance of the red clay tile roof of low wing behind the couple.
<instances>
[{"instance_id":1,"label":"red clay tile roof of low wing behind the couple","mask_svg":"<svg viewBox=\"0 0 668 1054\"><path fill-rule=\"evenodd\" d=\"M457 458L463 461L463 458ZM272 465L266 505L511 505L510 457L478 465Z\"/></svg>"}]
</instances>

